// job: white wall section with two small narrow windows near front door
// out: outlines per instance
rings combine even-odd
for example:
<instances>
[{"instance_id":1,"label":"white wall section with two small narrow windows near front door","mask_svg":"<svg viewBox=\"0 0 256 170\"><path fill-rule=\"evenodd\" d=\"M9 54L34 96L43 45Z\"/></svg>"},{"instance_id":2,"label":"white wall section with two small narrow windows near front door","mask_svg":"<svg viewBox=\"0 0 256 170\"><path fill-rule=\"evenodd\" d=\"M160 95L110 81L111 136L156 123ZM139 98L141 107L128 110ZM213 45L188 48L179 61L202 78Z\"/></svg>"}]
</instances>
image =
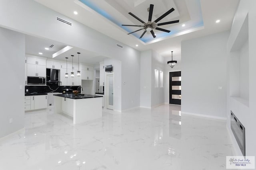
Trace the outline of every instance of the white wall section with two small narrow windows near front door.
<instances>
[{"instance_id":1,"label":"white wall section with two small narrow windows near front door","mask_svg":"<svg viewBox=\"0 0 256 170\"><path fill-rule=\"evenodd\" d=\"M155 69L158 70L158 80L160 85L160 71L164 72L164 57L160 56L156 51L152 50L152 67L151 67L151 106L156 106L164 103L164 87L158 86L156 88L155 84Z\"/></svg>"}]
</instances>

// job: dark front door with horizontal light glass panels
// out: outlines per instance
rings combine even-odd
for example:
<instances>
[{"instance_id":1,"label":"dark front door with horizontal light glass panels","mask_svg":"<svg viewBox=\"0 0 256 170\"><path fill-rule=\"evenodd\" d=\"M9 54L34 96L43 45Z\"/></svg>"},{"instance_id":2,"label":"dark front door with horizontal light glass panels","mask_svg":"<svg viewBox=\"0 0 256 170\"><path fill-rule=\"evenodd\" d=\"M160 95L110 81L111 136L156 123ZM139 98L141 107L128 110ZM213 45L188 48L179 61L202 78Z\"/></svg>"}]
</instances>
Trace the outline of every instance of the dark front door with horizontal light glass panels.
<instances>
[{"instance_id":1,"label":"dark front door with horizontal light glass panels","mask_svg":"<svg viewBox=\"0 0 256 170\"><path fill-rule=\"evenodd\" d=\"M181 104L181 72L170 72L169 103Z\"/></svg>"}]
</instances>

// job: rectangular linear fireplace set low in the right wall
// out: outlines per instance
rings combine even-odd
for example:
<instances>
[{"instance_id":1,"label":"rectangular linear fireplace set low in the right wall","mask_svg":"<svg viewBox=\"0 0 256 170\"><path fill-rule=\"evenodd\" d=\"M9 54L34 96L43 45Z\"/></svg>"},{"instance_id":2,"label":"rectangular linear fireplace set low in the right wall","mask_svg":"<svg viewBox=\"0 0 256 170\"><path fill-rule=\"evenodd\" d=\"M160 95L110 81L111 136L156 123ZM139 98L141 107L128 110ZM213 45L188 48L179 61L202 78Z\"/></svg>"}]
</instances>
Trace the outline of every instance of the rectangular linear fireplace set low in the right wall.
<instances>
[{"instance_id":1,"label":"rectangular linear fireplace set low in the right wall","mask_svg":"<svg viewBox=\"0 0 256 170\"><path fill-rule=\"evenodd\" d=\"M242 125L242 123L237 119L237 117L234 115L232 111L231 113L231 130L234 134L234 137L236 138L236 142L242 152L242 154L245 156L245 128Z\"/></svg>"}]
</instances>

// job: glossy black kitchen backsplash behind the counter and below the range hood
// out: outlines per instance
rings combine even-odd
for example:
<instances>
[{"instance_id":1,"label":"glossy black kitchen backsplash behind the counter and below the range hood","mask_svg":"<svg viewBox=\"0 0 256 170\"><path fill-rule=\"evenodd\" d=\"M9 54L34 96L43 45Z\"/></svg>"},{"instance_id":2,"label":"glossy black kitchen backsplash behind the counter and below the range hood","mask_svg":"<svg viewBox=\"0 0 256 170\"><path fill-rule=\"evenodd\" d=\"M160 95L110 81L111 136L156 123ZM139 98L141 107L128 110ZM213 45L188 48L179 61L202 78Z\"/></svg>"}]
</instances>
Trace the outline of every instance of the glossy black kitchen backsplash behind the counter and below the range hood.
<instances>
[{"instance_id":1,"label":"glossy black kitchen backsplash behind the counter and below the range hood","mask_svg":"<svg viewBox=\"0 0 256 170\"><path fill-rule=\"evenodd\" d=\"M77 90L79 86L58 86L58 85L49 85L49 86L25 86L25 93L49 93L49 92L60 92L66 91L72 92L72 90ZM27 92L28 90L28 92Z\"/></svg>"}]
</instances>

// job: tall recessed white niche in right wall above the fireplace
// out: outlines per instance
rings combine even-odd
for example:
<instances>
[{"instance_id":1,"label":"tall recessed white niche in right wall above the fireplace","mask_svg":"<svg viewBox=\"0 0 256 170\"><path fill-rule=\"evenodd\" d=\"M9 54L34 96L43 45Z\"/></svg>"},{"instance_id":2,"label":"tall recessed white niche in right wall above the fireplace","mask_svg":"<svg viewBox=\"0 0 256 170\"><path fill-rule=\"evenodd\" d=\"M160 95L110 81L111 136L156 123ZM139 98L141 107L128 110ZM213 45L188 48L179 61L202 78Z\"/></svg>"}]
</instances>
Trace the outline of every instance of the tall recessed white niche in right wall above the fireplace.
<instances>
[{"instance_id":1,"label":"tall recessed white niche in right wall above the fireplace","mask_svg":"<svg viewBox=\"0 0 256 170\"><path fill-rule=\"evenodd\" d=\"M249 106L248 15L230 51L230 97Z\"/></svg>"}]
</instances>

